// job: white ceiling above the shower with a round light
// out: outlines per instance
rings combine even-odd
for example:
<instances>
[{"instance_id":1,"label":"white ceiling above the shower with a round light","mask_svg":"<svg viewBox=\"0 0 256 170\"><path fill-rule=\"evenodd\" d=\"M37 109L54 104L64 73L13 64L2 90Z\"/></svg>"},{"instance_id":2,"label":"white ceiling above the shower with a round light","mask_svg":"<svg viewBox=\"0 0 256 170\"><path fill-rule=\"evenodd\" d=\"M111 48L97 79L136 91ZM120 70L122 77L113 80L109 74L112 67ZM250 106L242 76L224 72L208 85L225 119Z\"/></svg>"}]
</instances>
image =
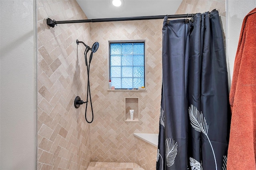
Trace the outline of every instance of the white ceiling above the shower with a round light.
<instances>
[{"instance_id":1,"label":"white ceiling above the shower with a round light","mask_svg":"<svg viewBox=\"0 0 256 170\"><path fill-rule=\"evenodd\" d=\"M172 15L182 0L121 0L115 7L112 0L76 0L88 19L132 16Z\"/></svg>"}]
</instances>

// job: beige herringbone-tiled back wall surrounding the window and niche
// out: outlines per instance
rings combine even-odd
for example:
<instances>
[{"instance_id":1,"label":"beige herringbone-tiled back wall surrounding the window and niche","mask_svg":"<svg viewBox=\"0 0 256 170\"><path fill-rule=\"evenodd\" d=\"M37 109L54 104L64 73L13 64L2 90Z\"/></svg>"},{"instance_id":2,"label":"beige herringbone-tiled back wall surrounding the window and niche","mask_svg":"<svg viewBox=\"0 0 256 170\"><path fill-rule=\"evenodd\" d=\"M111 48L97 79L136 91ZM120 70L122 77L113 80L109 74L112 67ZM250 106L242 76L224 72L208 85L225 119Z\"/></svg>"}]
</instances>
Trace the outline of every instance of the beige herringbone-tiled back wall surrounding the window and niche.
<instances>
[{"instance_id":1,"label":"beige herringbone-tiled back wall surrounding the window and niche","mask_svg":"<svg viewBox=\"0 0 256 170\"><path fill-rule=\"evenodd\" d=\"M141 161L146 164L146 161L152 160L145 159L147 154L144 158L138 157L140 143L136 142L133 133L158 133L162 85L162 20L91 23L90 27L92 41L100 43L92 59L90 72L95 112L95 120L90 127L92 161ZM145 40L147 91L107 90L110 40ZM138 97L139 122L125 122L126 97ZM157 148L151 147L147 153L153 154L155 164Z\"/></svg>"}]
</instances>

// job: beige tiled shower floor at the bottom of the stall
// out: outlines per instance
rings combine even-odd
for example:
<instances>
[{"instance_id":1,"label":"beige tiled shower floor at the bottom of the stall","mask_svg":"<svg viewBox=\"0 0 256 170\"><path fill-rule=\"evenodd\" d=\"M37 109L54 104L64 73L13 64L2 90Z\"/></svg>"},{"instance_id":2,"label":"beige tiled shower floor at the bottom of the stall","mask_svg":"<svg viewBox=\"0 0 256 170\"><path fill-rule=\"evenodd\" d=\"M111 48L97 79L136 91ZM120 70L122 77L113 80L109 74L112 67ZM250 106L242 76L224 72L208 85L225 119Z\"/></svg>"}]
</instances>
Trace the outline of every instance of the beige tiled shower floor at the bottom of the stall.
<instances>
[{"instance_id":1,"label":"beige tiled shower floor at the bottom of the stall","mask_svg":"<svg viewBox=\"0 0 256 170\"><path fill-rule=\"evenodd\" d=\"M91 162L87 170L144 170L136 163Z\"/></svg>"}]
</instances>

